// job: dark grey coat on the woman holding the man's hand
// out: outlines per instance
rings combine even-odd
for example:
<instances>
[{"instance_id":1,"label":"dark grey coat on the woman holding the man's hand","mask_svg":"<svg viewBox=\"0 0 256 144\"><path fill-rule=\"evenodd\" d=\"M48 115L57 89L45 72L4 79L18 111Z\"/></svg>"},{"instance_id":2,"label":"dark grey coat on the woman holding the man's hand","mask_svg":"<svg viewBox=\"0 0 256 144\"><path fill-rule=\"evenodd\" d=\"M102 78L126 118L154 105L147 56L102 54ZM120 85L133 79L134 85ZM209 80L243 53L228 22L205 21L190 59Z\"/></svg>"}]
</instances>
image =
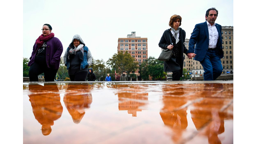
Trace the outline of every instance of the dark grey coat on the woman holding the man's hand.
<instances>
[{"instance_id":1,"label":"dark grey coat on the woman holding the man's hand","mask_svg":"<svg viewBox=\"0 0 256 144\"><path fill-rule=\"evenodd\" d=\"M173 55L169 61L164 61L164 71L165 72L173 72L176 70L180 70L181 74L183 72L183 62L184 62L183 53L186 53L188 51L188 49L183 44L185 42L186 32L182 28L179 28L179 29L180 29L179 35L180 35L180 41L181 41L181 45L180 45L181 62L179 64L177 64L176 57ZM164 31L163 36L161 37L161 40L158 44L158 46L162 49L167 49L167 46L172 43L169 30L170 29L167 29Z\"/></svg>"}]
</instances>

